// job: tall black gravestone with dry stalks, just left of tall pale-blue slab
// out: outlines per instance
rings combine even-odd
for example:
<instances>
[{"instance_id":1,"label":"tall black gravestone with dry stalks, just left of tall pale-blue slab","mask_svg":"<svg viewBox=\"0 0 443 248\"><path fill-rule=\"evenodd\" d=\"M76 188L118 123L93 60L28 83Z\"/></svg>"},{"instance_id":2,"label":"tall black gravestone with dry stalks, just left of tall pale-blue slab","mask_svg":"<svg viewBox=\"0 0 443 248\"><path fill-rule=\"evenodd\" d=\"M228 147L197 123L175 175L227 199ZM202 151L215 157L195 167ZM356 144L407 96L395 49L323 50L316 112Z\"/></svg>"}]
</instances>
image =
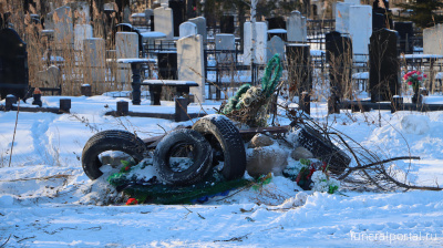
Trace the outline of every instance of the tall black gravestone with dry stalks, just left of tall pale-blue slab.
<instances>
[{"instance_id":1,"label":"tall black gravestone with dry stalks, just left of tall pale-blue slab","mask_svg":"<svg viewBox=\"0 0 443 248\"><path fill-rule=\"evenodd\" d=\"M326 61L329 64L329 79L333 94L343 99L344 90L350 90L352 76L352 42L348 37L333 31L327 33ZM350 96L350 95L347 95Z\"/></svg>"}]
</instances>

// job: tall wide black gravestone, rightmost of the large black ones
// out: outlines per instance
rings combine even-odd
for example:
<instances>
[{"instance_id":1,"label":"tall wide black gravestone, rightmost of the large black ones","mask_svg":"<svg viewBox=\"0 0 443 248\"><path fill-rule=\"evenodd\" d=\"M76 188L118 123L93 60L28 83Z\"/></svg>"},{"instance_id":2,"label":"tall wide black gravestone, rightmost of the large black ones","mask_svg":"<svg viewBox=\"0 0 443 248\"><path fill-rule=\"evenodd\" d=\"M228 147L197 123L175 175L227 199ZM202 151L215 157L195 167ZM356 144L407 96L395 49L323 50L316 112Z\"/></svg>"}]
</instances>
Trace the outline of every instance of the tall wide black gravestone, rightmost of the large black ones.
<instances>
[{"instance_id":1,"label":"tall wide black gravestone, rightmost of the large black ones","mask_svg":"<svg viewBox=\"0 0 443 248\"><path fill-rule=\"evenodd\" d=\"M391 101L400 95L400 63L396 32L381 29L371 37L369 53L369 90L372 102Z\"/></svg>"}]
</instances>

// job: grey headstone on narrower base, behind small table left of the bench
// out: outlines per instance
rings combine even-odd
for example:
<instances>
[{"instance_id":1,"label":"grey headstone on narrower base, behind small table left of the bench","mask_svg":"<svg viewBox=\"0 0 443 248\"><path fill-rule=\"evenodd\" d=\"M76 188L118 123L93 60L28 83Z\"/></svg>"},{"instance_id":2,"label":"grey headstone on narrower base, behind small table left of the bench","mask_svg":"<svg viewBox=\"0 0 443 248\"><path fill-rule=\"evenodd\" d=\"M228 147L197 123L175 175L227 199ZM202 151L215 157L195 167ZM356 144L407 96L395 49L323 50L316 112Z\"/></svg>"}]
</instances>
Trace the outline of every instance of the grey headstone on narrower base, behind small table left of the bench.
<instances>
[{"instance_id":1,"label":"grey headstone on narrower base, behind small table left of the bench","mask_svg":"<svg viewBox=\"0 0 443 248\"><path fill-rule=\"evenodd\" d=\"M116 32L115 34L116 59L138 58L138 35L134 32ZM119 64L117 82L131 82L131 65Z\"/></svg>"}]
</instances>

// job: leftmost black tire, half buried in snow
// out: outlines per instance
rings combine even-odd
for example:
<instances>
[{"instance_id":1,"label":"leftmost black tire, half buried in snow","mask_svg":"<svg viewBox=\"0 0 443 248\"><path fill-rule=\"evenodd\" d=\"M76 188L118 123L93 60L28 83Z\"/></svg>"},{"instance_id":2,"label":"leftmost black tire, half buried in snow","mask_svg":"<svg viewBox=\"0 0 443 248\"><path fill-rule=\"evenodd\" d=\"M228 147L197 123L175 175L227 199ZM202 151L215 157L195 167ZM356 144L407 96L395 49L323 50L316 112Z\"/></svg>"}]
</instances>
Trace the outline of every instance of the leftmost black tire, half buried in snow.
<instances>
[{"instance_id":1,"label":"leftmost black tire, half buried in snow","mask_svg":"<svg viewBox=\"0 0 443 248\"><path fill-rule=\"evenodd\" d=\"M99 155L106 151L124 152L138 163L144 158L146 146L140 137L126 131L110 130L96 133L86 142L82 153L83 170L89 178L96 179L103 175L100 170L102 162Z\"/></svg>"}]
</instances>

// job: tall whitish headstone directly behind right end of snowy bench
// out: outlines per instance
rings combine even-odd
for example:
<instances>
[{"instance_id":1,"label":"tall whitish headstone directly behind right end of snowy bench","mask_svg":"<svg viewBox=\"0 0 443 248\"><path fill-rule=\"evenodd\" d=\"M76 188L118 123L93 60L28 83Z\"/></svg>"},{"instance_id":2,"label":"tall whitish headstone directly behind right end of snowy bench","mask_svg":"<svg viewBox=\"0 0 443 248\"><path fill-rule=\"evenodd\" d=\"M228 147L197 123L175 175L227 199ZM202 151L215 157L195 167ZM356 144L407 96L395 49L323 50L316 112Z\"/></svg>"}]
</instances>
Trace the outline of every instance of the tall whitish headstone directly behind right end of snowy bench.
<instances>
[{"instance_id":1,"label":"tall whitish headstone directly behind right end of snowy bench","mask_svg":"<svg viewBox=\"0 0 443 248\"><path fill-rule=\"evenodd\" d=\"M198 87L190 87L194 102L205 102L205 65L203 37L185 37L177 41L178 80L188 80L198 83Z\"/></svg>"}]
</instances>

